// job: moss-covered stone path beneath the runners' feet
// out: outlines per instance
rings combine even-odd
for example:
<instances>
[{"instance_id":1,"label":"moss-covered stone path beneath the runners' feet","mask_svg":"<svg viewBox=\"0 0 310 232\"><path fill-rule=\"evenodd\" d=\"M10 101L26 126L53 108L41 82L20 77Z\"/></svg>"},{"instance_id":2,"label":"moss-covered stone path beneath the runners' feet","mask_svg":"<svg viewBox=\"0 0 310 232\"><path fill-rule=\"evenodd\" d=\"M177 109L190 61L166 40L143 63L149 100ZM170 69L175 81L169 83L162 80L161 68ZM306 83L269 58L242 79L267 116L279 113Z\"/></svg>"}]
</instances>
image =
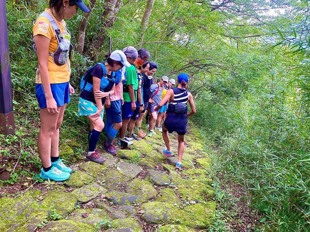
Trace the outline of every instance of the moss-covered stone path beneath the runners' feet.
<instances>
[{"instance_id":1,"label":"moss-covered stone path beneath the runners' feet","mask_svg":"<svg viewBox=\"0 0 310 232\"><path fill-rule=\"evenodd\" d=\"M135 141L132 150L107 153L103 165L76 163L68 144L61 146L75 162L69 180L51 182L44 191L30 190L0 199L0 231L194 232L207 229L216 204L211 159L202 138L189 125L183 170L176 170L177 135L170 136L174 157L167 159L161 133ZM172 164L172 165L171 165ZM160 225L160 226L159 226Z\"/></svg>"}]
</instances>

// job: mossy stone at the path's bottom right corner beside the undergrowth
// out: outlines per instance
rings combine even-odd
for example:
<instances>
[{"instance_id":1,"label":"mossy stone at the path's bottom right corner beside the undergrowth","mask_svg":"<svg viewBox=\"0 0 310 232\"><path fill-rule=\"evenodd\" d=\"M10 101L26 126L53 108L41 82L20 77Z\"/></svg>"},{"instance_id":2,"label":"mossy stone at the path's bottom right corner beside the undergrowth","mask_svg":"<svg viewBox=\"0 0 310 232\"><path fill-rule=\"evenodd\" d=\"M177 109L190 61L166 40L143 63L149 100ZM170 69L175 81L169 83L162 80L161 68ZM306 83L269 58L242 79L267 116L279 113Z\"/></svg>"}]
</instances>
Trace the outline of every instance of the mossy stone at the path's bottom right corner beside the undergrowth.
<instances>
[{"instance_id":1,"label":"mossy stone at the path's bottom right corner beside the undergrowth","mask_svg":"<svg viewBox=\"0 0 310 232\"><path fill-rule=\"evenodd\" d=\"M201 229L207 228L215 218L215 206L214 201L208 201L206 203L199 203L185 207L185 211L190 213L194 223Z\"/></svg>"}]
</instances>

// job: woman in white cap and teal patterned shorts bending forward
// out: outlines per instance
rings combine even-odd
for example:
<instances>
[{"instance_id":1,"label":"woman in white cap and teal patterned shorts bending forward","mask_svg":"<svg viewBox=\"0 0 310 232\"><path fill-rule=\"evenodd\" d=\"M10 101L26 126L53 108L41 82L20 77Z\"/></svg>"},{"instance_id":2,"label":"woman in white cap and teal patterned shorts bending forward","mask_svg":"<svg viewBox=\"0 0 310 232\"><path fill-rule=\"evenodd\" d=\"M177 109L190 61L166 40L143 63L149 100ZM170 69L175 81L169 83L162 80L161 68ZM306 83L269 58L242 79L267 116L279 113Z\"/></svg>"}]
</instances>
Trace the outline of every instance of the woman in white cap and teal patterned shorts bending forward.
<instances>
[{"instance_id":1,"label":"woman in white cap and teal patterned shorts bending forward","mask_svg":"<svg viewBox=\"0 0 310 232\"><path fill-rule=\"evenodd\" d=\"M88 152L86 160L103 163L104 158L95 150L101 131L104 128L103 105L106 97L115 92L115 72L123 66L130 67L121 50L106 54L107 61L98 63L88 77L81 80L81 94L78 102L78 115L86 116L90 122Z\"/></svg>"}]
</instances>

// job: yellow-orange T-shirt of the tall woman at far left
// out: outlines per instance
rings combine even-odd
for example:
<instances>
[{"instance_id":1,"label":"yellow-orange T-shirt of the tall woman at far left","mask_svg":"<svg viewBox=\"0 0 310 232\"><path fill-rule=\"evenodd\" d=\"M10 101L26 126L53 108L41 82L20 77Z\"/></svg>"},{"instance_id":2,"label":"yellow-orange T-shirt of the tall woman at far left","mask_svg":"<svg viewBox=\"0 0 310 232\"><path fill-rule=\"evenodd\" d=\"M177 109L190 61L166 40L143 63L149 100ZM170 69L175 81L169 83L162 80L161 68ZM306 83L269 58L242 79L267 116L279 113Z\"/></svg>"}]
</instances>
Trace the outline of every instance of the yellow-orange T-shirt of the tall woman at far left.
<instances>
[{"instance_id":1,"label":"yellow-orange T-shirt of the tall woman at far left","mask_svg":"<svg viewBox=\"0 0 310 232\"><path fill-rule=\"evenodd\" d=\"M48 12L50 15L52 15L50 9L45 9L46 12ZM54 15L52 17L55 19ZM65 35L65 22L62 20L62 23L60 24L56 19L55 22L57 23L60 32ZM33 36L36 35L43 35L51 40L49 44L48 51L50 53L54 53L56 49L58 48L58 41L55 36L55 31L53 30L53 27L49 20L43 16L39 16L35 24L32 28ZM71 40L71 38L70 38ZM64 65L57 65L53 62L53 57L48 56L48 74L50 78L51 84L57 84L57 83L65 83L68 82L70 79L71 69L70 69L70 60L69 57L67 58L68 63L65 63ZM38 70L36 73L36 83L42 83L41 82L41 76L40 72L38 75Z\"/></svg>"}]
</instances>

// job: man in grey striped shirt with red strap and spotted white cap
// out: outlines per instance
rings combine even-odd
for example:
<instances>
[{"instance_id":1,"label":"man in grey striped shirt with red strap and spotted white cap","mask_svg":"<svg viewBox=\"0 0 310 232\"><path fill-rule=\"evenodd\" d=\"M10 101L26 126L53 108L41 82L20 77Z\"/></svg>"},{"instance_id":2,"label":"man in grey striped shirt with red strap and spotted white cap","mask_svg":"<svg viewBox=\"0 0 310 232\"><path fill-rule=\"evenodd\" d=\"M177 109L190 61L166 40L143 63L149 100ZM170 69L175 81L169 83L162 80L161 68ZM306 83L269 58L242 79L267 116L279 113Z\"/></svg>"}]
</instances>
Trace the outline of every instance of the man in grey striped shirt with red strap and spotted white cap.
<instances>
[{"instance_id":1,"label":"man in grey striped shirt with red strap and spotted white cap","mask_svg":"<svg viewBox=\"0 0 310 232\"><path fill-rule=\"evenodd\" d=\"M154 132L155 122L157 120L158 111L154 110L154 106L157 106L159 102L162 101L162 89L165 84L168 83L168 77L163 76L160 81L156 84L152 84L150 87L150 100L148 108L151 111L152 118L149 121L149 128L148 128L148 136L152 137L156 135Z\"/></svg>"}]
</instances>

